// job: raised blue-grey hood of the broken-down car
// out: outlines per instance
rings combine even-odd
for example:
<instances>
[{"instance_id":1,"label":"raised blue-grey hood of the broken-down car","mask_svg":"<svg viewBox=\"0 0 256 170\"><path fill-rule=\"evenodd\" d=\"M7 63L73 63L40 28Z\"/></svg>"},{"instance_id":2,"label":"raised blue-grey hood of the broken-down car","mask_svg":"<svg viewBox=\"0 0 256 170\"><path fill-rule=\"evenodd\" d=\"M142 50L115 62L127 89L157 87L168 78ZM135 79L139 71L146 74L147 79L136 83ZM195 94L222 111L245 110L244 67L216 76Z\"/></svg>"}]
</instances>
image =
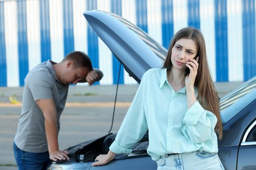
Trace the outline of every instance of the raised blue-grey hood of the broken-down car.
<instances>
[{"instance_id":1,"label":"raised blue-grey hood of the broken-down car","mask_svg":"<svg viewBox=\"0 0 256 170\"><path fill-rule=\"evenodd\" d=\"M86 11L83 15L137 82L148 69L162 67L167 50L136 25L100 10Z\"/></svg>"}]
</instances>

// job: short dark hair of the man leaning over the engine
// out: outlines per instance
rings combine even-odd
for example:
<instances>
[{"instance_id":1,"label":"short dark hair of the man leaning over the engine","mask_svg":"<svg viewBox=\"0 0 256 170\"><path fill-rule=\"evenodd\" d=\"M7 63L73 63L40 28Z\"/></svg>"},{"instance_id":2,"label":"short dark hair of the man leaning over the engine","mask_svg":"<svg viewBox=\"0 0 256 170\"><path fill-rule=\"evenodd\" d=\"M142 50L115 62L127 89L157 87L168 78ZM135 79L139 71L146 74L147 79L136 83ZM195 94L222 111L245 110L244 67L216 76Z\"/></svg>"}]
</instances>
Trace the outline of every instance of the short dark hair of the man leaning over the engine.
<instances>
[{"instance_id":1,"label":"short dark hair of the man leaning over the engine","mask_svg":"<svg viewBox=\"0 0 256 170\"><path fill-rule=\"evenodd\" d=\"M75 51L75 52L70 52L69 54L66 55L62 61L73 61L74 62L74 67L87 67L89 68L89 71L93 70L93 65L91 63L91 59L89 56L83 52Z\"/></svg>"}]
</instances>

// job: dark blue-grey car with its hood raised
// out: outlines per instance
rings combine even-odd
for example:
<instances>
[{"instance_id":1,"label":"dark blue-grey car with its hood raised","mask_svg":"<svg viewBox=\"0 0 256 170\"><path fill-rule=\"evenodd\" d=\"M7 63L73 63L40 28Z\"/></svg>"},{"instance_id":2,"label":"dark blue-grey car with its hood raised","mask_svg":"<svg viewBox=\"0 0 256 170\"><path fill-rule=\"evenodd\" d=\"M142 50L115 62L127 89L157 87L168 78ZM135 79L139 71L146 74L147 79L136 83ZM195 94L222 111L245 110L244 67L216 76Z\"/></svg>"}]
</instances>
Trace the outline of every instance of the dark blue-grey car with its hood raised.
<instances>
[{"instance_id":1,"label":"dark blue-grey car with its hood raised","mask_svg":"<svg viewBox=\"0 0 256 170\"><path fill-rule=\"evenodd\" d=\"M167 50L136 25L100 10L85 11L84 16L137 82L148 69L162 67ZM224 168L256 169L256 76L225 95L220 103L223 138L218 142ZM53 162L49 169L157 169L146 152L148 133L131 154L117 154L110 163L92 167L98 154L108 152L115 137L116 133L109 133L67 148L70 160Z\"/></svg>"}]
</instances>

